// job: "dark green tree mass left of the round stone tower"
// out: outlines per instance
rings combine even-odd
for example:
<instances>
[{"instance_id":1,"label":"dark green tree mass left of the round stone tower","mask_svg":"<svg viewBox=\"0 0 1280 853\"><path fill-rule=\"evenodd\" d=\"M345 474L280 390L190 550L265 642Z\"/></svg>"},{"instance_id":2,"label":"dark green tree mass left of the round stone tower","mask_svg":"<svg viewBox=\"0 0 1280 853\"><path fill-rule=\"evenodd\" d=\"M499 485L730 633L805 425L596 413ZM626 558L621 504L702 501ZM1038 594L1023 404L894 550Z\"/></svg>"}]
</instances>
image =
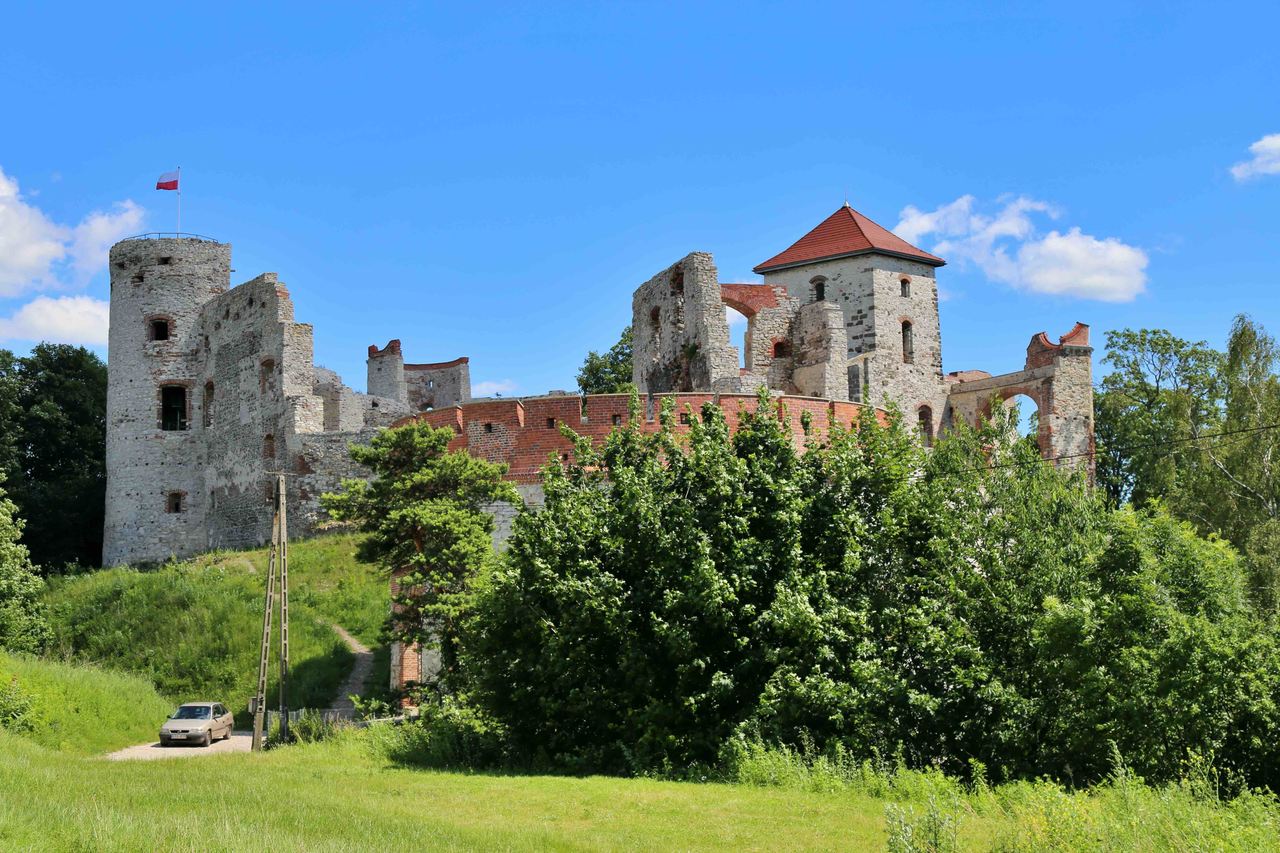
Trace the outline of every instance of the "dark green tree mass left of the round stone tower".
<instances>
[{"instance_id":1,"label":"dark green tree mass left of the round stone tower","mask_svg":"<svg viewBox=\"0 0 1280 853\"><path fill-rule=\"evenodd\" d=\"M102 558L106 365L84 347L0 351L0 473L46 573Z\"/></svg>"}]
</instances>

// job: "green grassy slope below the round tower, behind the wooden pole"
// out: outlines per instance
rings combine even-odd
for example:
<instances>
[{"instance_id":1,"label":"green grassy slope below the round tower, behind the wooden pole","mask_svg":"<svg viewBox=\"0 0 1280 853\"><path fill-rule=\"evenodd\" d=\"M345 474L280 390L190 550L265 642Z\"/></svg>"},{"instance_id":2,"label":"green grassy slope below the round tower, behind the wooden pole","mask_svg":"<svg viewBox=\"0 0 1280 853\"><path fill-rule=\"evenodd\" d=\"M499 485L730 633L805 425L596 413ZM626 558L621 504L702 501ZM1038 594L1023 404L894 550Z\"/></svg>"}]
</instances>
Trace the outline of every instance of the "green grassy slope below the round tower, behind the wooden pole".
<instances>
[{"instance_id":1,"label":"green grassy slope below the round tower, behind the wooden pole","mask_svg":"<svg viewBox=\"0 0 1280 853\"><path fill-rule=\"evenodd\" d=\"M328 706L351 670L353 656L334 622L378 644L388 589L356 564L355 547L353 537L291 544L293 707ZM141 675L175 702L227 702L243 724L257 679L266 561L261 548L56 579L46 593L50 656ZM385 670L380 675L385 680ZM273 704L274 695L273 679Z\"/></svg>"}]
</instances>

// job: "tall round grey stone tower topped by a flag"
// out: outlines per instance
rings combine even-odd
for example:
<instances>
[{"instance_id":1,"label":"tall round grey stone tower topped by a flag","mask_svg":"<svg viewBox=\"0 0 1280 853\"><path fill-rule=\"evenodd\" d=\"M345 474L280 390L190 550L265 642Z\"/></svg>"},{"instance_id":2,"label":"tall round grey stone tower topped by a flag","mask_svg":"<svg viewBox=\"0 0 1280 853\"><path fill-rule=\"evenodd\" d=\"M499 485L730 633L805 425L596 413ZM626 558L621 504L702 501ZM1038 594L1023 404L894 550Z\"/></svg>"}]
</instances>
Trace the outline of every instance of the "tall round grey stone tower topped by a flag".
<instances>
[{"instance_id":1,"label":"tall round grey stone tower topped by a flag","mask_svg":"<svg viewBox=\"0 0 1280 853\"><path fill-rule=\"evenodd\" d=\"M196 442L209 347L197 320L230 288L230 245L191 236L111 247L104 565L207 544Z\"/></svg>"}]
</instances>

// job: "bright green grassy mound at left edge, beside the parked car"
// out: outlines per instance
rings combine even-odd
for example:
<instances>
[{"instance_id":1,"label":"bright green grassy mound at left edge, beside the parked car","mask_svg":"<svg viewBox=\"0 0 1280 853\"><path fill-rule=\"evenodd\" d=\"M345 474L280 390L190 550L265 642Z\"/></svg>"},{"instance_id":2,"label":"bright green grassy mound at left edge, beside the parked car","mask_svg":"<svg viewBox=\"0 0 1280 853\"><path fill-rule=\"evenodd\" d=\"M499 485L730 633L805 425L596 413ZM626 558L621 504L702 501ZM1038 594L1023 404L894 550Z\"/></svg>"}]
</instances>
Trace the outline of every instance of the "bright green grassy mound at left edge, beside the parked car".
<instances>
[{"instance_id":1,"label":"bright green grassy mound at left edge, beside the parked car","mask_svg":"<svg viewBox=\"0 0 1280 853\"><path fill-rule=\"evenodd\" d=\"M155 740L173 703L143 678L0 652L0 690L26 704L24 735L50 749L92 754Z\"/></svg>"}]
</instances>

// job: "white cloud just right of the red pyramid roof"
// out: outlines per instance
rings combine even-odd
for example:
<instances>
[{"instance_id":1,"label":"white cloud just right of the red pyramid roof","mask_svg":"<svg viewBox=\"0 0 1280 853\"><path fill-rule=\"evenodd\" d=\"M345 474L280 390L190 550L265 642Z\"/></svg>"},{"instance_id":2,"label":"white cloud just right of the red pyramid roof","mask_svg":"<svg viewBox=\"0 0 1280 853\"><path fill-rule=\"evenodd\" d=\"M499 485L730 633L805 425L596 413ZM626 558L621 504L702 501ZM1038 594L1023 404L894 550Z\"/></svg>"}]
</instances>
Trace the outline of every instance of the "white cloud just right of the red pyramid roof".
<instances>
[{"instance_id":1,"label":"white cloud just right of the red pyramid roof","mask_svg":"<svg viewBox=\"0 0 1280 853\"><path fill-rule=\"evenodd\" d=\"M1057 219L1057 207L1027 196L1004 197L1000 204L993 214L979 213L973 196L929 211L909 205L893 232L913 243L933 236L938 242L929 251L973 263L992 280L1036 293L1128 302L1146 288L1143 250L1078 227L1041 234L1034 216Z\"/></svg>"}]
</instances>

